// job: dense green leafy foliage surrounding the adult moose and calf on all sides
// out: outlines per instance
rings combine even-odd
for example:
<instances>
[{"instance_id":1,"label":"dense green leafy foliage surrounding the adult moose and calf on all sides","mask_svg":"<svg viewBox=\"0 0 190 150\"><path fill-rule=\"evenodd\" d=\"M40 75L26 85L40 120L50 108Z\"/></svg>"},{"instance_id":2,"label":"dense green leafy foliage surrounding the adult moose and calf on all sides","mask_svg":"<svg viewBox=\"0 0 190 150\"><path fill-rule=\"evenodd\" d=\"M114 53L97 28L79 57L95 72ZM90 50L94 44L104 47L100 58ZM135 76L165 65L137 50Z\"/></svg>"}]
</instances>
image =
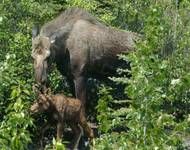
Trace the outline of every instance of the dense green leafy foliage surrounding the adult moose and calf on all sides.
<instances>
[{"instance_id":1,"label":"dense green leafy foliage surrounding the adult moose and calf on all sides","mask_svg":"<svg viewBox=\"0 0 190 150\"><path fill-rule=\"evenodd\" d=\"M108 82L89 80L88 119L99 126L91 148L187 149L189 0L2 0L0 149L35 149L41 120L28 113L35 99L31 88L31 28L73 6L87 9L104 24L142 36L136 52L120 56L131 62L131 70L118 68L120 77L109 78ZM56 70L50 79L55 92L64 90L70 94L66 81ZM47 145L52 145L51 140Z\"/></svg>"}]
</instances>

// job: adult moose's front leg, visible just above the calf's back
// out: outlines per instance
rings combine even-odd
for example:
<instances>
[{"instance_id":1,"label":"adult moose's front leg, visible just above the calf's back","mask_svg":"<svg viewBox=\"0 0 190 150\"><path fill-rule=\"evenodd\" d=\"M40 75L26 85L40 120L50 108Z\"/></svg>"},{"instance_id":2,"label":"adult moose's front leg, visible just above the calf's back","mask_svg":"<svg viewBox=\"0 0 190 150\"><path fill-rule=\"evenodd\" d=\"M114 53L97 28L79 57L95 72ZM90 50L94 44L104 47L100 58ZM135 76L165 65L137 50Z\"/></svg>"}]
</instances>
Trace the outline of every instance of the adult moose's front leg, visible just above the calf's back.
<instances>
[{"instance_id":1,"label":"adult moose's front leg, visible just above the calf's back","mask_svg":"<svg viewBox=\"0 0 190 150\"><path fill-rule=\"evenodd\" d=\"M86 103L86 79L84 76L78 76L74 79L75 84L75 95L81 100L83 105L83 110L85 112L85 103Z\"/></svg>"}]
</instances>

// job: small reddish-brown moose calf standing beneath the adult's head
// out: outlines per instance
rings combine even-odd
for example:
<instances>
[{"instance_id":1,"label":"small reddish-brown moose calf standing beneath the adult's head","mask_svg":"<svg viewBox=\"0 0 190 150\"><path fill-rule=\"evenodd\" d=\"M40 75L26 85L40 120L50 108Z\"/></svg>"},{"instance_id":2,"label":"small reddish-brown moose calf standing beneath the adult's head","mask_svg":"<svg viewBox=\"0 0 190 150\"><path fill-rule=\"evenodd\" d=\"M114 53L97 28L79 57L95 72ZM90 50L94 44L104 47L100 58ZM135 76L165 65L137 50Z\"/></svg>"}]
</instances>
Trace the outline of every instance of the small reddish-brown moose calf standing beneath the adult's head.
<instances>
[{"instance_id":1,"label":"small reddish-brown moose calf standing beneath the adult's head","mask_svg":"<svg viewBox=\"0 0 190 150\"><path fill-rule=\"evenodd\" d=\"M78 146L81 137L80 126L90 140L94 137L93 130L87 124L81 101L78 99L69 98L63 94L45 95L38 92L38 99L32 104L30 111L32 113L46 112L48 115L47 123L44 124L41 130L40 144L42 147L44 132L52 124L57 124L57 140L62 138L63 123L66 122L70 125L75 134L71 142L71 149L76 149Z\"/></svg>"}]
</instances>

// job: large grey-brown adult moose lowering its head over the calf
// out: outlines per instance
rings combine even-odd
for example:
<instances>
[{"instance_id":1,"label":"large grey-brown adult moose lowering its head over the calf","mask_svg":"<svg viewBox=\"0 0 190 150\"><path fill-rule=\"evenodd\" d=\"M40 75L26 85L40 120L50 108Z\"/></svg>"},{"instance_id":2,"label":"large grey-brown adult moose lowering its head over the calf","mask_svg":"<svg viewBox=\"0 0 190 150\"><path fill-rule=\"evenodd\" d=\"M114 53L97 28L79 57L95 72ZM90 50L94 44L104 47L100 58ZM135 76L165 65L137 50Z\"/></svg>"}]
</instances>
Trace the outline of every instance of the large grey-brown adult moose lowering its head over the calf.
<instances>
[{"instance_id":1,"label":"large grey-brown adult moose lowering its head over the calf","mask_svg":"<svg viewBox=\"0 0 190 150\"><path fill-rule=\"evenodd\" d=\"M58 70L74 85L75 96L85 105L86 81L115 73L117 55L135 49L137 34L101 24L80 8L70 8L32 32L35 79L44 84L48 68Z\"/></svg>"}]
</instances>

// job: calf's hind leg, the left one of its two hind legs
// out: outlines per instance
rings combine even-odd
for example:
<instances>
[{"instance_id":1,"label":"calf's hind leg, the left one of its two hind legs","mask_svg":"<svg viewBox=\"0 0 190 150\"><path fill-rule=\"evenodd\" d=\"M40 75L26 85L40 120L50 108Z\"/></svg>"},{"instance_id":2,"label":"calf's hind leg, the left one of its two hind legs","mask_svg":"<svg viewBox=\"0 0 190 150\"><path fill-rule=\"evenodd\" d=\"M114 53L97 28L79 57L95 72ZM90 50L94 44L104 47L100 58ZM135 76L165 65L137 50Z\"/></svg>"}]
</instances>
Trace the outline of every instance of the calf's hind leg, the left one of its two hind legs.
<instances>
[{"instance_id":1,"label":"calf's hind leg, the left one of its two hind legs","mask_svg":"<svg viewBox=\"0 0 190 150\"><path fill-rule=\"evenodd\" d=\"M70 124L72 131L74 132L74 138L71 141L71 149L76 150L81 138L81 128L78 126L78 123Z\"/></svg>"}]
</instances>

